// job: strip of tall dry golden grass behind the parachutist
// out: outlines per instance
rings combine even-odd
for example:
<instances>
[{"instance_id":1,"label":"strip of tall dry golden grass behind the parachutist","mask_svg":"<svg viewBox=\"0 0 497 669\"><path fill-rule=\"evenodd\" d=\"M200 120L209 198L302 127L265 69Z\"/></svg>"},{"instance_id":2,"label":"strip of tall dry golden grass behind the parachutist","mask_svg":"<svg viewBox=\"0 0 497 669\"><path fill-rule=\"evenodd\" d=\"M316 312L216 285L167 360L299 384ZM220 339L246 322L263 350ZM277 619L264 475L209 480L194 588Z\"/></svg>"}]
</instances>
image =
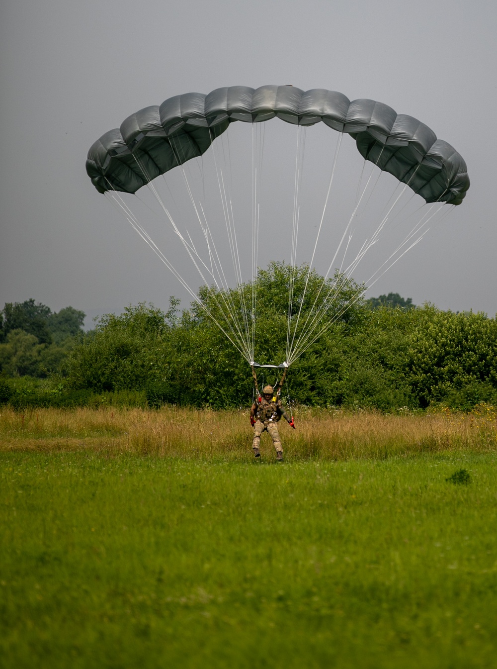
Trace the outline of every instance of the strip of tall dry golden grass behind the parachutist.
<instances>
[{"instance_id":1,"label":"strip of tall dry golden grass behind the parachutist","mask_svg":"<svg viewBox=\"0 0 497 669\"><path fill-rule=\"evenodd\" d=\"M294 431L280 423L286 456L296 459L385 458L421 452L472 450L497 446L497 413L480 405L472 413L383 415L369 411L296 411ZM0 451L92 450L178 458L252 457L247 411L164 407L0 410ZM263 456L273 457L262 438Z\"/></svg>"}]
</instances>

